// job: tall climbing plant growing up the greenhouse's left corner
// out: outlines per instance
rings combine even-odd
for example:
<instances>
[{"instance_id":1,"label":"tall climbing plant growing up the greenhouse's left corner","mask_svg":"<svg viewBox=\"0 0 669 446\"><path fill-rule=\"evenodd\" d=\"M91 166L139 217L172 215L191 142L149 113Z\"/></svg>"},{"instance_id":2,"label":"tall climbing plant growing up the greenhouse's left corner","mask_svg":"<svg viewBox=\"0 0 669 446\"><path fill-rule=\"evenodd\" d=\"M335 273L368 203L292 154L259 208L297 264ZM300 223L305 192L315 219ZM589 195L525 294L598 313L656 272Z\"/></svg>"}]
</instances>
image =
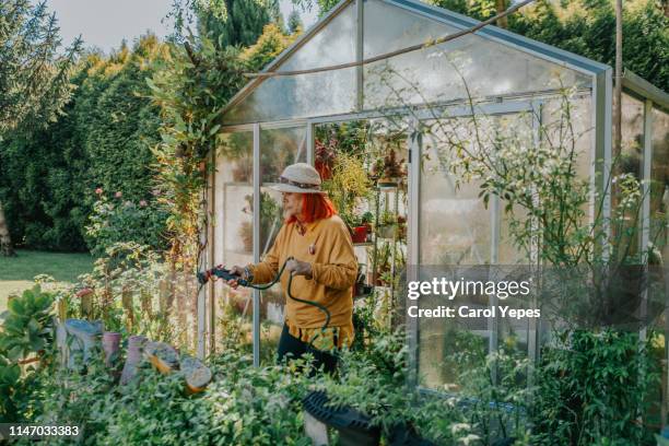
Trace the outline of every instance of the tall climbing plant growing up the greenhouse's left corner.
<instances>
[{"instance_id":1,"label":"tall climbing plant growing up the greenhouse's left corner","mask_svg":"<svg viewBox=\"0 0 669 446\"><path fill-rule=\"evenodd\" d=\"M167 261L173 275L180 271L186 281L195 277L206 247L200 243L200 228L208 218L202 192L214 168L211 155L226 141L219 131L221 114L245 83L243 72L259 69L255 64L265 63L266 54L280 51L283 45L286 40L272 26L267 26L259 44L247 50L220 47L203 35L191 36L183 46L173 46L169 63L146 81L163 120L162 140L153 153L159 187L164 192L160 202L169 214ZM192 303L191 308L196 308L196 290L186 285L181 296L184 303Z\"/></svg>"}]
</instances>

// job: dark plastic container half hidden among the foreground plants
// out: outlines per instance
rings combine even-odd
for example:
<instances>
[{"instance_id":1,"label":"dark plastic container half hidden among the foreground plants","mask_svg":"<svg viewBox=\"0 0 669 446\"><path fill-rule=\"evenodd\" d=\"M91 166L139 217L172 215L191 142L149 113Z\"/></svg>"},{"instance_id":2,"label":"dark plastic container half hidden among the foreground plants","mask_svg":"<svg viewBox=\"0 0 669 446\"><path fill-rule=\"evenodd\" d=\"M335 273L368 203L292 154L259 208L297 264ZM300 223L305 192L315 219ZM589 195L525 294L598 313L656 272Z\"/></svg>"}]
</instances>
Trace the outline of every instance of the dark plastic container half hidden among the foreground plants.
<instances>
[{"instance_id":1,"label":"dark plastic container half hidden among the foreground plants","mask_svg":"<svg viewBox=\"0 0 669 446\"><path fill-rule=\"evenodd\" d=\"M324 391L312 391L302 404L312 416L339 431L340 446L377 446L380 429L372 425L368 416L350 407L327 406L328 397Z\"/></svg>"}]
</instances>

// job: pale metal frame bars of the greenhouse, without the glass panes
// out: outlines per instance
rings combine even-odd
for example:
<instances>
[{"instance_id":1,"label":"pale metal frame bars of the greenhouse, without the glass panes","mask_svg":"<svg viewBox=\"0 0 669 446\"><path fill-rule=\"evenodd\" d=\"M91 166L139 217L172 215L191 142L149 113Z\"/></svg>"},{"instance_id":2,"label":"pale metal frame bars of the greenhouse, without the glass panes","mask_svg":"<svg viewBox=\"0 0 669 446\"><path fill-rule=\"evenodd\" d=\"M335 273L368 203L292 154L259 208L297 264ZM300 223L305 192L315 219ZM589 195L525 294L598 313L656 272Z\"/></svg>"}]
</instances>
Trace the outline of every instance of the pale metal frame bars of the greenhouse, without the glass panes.
<instances>
[{"instance_id":1,"label":"pale metal frame bars of the greenhouse, without the glass panes","mask_svg":"<svg viewBox=\"0 0 669 446\"><path fill-rule=\"evenodd\" d=\"M413 13L426 16L431 20L441 21L458 28L468 28L476 25L478 22L466 17L463 15L453 13L439 8L431 7L416 0L382 0L389 4L397 5L404 10L409 10ZM307 33L305 33L295 44L284 50L272 63L270 63L263 71L274 71L281 67L281 64L296 50L298 50L308 39L312 38L317 32L322 30L339 12L344 8L355 2L356 8L356 46L355 57L356 60L363 58L363 43L364 43L364 0L342 0L337 7L332 9L325 17L322 17L315 26L313 26ZM573 55L567 51L544 45L516 34L509 33L505 30L497 28L495 26L488 26L476 33L479 36L489 38L491 40L504 44L506 46L523 50L527 54L536 56L538 58L558 63L563 67L567 67L579 73L585 73L591 77L592 83L591 89L585 92L591 97L591 167L590 167L590 180L592 197L590 200L590 218L595 219L597 209L595 209L596 196L595 193L603 195L605 207L602 209L603 221L608 221L611 215L611 203L610 203L610 190L609 190L609 172L611 168L611 137L612 137L612 70L610 67L591 61L580 56ZM398 107L388 110L364 110L363 109L363 69L359 67L356 70L356 110L354 113L347 113L332 116L315 116L309 118L300 119L283 119L270 122L255 122L255 124L242 124L234 126L224 126L221 131L224 132L236 132L236 131L253 131L254 134L254 261L260 260L260 131L266 129L279 129L290 127L306 127L307 134L307 162L314 164L314 136L315 126L319 124L329 122L341 122L348 120L360 120L360 119L373 119L384 118L388 115L404 115L412 116L411 125L409 126L408 141L410 149L410 168L409 168L409 219L408 219L408 251L407 251L407 265L418 266L420 263L420 175L421 175L421 146L422 141L415 137L413 130L420 124L420 120L434 118L431 114L435 108L448 110L449 117L466 116L470 114L470 107L465 101L454 101L444 104L425 104L416 107ZM226 107L226 110L234 107L236 104L242 102L250 92L254 91L263 80L256 79L249 82L239 93L237 93ZM636 77L634 73L625 72L623 79L623 86L625 90L632 91L633 93L641 95L645 98L645 119L644 119L644 180L649 179L650 175L650 160L652 160L652 131L653 131L653 119L652 110L653 107L659 107L664 110L669 109L669 95L660 91L659 89L645 82L643 79ZM554 92L537 92L536 95L551 95ZM490 97L483 99L484 102L477 105L477 111L482 111L489 115L496 114L508 114L519 113L526 110L533 110L537 114L539 102L535 99L531 93L521 95L507 95L504 97ZM501 101L501 102L498 102ZM643 203L643 233L642 233L642 246L648 244L648 221L649 221L649 198L647 197L648 185L644 183L644 196L645 201ZM496 203L493 202L491 208L493 218L493 231L495 226L498 226L498 212L496 212ZM605 228L610 232L610 227ZM497 228L498 231L498 228ZM498 233L493 233L493 240ZM210 240L213 244L213 237ZM607 249L607 247L603 247ZM212 250L213 253L213 250ZM209 256L208 259L210 267L213 265L213 255ZM409 274L416 274L415 268L408 269ZM416 278L408 277L408 280L414 280ZM213 292L212 287L209 287L210 293ZM203 302L203 300L202 300ZM210 302L213 302L210 300ZM253 340L254 340L254 364L259 365L260 355L260 292L253 292ZM200 313L201 312L201 313ZM213 312L213 307L212 307ZM198 322L204 320L204 309L201 308L200 297L198 297ZM210 315L213 324L213 314ZM201 319L201 320L200 320ZM408 325L408 342L410 347L410 361L413 364L412 369L414 371L413 383L418 383L415 372L418 371L418 341L419 341L419 328L414 320L410 318L407 321ZM211 328L213 330L213 326ZM496 331L496 330L493 330ZM538 356L538 336L540 332L539 327L529 327L528 329L528 353L533 359ZM199 337L204 337L204 331L198 330ZM496 333L495 333L496 334ZM492 339L491 336L491 348L496 344L496 337ZM198 355L202 354L203 351L200 349L200 342L198 343ZM668 349L669 350L669 349ZM667 359L669 360L669 351ZM665 406L669 396L665 396Z\"/></svg>"}]
</instances>

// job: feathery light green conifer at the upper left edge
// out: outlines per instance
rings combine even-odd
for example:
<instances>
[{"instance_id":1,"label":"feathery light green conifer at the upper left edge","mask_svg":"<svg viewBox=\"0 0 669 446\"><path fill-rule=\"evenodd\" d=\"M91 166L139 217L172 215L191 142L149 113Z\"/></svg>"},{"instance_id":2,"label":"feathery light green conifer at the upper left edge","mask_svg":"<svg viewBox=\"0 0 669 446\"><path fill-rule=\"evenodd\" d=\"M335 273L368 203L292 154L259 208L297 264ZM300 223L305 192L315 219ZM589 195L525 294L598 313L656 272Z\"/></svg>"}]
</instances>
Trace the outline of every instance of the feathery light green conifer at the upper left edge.
<instances>
[{"instance_id":1,"label":"feathery light green conifer at the upper left edge","mask_svg":"<svg viewBox=\"0 0 669 446\"><path fill-rule=\"evenodd\" d=\"M70 96L69 74L81 39L59 54L59 31L46 2L0 0L0 141L21 127L54 120ZM14 255L1 201L0 253Z\"/></svg>"}]
</instances>

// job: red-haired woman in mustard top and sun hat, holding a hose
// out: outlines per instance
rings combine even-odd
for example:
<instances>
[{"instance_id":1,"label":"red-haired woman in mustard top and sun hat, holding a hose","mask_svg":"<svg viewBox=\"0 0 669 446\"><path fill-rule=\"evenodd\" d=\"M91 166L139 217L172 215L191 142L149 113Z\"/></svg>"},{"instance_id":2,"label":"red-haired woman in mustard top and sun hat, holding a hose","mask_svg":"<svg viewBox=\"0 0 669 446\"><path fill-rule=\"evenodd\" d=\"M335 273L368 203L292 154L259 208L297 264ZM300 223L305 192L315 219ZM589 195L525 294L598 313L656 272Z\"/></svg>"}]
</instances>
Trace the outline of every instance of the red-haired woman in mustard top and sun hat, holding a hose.
<instances>
[{"instance_id":1,"label":"red-haired woman in mustard top and sun hat, holding a hose","mask_svg":"<svg viewBox=\"0 0 669 446\"><path fill-rule=\"evenodd\" d=\"M250 283L268 283L292 257L281 277L281 289L287 295L292 272L292 295L325 306L330 313L330 322L321 330L326 321L321 309L286 297L279 361L289 355L298 357L308 351L317 368L322 366L326 372L332 372L337 367L332 350L349 347L353 341L352 286L357 261L348 227L320 190L320 175L310 165L287 166L280 183L272 187L282 192L284 218L274 244L261 262L235 266L232 271ZM227 284L237 286L235 280Z\"/></svg>"}]
</instances>

